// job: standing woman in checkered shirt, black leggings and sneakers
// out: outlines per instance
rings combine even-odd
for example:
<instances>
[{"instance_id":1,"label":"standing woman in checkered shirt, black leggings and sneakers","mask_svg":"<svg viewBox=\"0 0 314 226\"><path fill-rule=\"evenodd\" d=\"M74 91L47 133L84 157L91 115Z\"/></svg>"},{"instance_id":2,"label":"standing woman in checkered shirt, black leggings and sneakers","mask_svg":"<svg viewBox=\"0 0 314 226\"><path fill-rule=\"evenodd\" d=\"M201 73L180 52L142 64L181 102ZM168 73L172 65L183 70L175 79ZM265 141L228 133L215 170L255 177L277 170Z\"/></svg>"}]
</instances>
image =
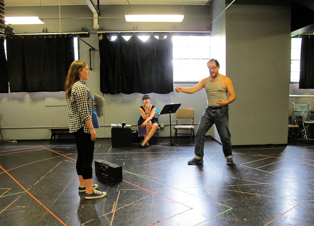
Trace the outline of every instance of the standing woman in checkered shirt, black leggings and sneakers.
<instances>
[{"instance_id":1,"label":"standing woman in checkered shirt, black leggings and sneakers","mask_svg":"<svg viewBox=\"0 0 314 226\"><path fill-rule=\"evenodd\" d=\"M87 64L76 60L71 64L65 82L69 128L75 136L78 151L78 192L85 192L86 199L102 198L107 194L96 190L98 184L92 184L92 162L97 135L92 124L92 95L84 82L88 80L89 73Z\"/></svg>"}]
</instances>

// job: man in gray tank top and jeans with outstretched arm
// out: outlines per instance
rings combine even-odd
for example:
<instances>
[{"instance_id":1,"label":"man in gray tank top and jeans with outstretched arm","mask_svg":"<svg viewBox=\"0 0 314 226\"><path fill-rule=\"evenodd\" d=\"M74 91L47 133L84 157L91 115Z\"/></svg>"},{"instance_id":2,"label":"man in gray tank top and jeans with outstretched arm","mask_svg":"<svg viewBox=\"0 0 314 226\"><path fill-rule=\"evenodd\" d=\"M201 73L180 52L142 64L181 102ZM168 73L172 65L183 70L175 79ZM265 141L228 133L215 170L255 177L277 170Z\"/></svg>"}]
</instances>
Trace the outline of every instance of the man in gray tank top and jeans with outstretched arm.
<instances>
[{"instance_id":1,"label":"man in gray tank top and jeans with outstretched arm","mask_svg":"<svg viewBox=\"0 0 314 226\"><path fill-rule=\"evenodd\" d=\"M195 135L194 157L188 161L188 164L202 163L204 157L205 134L211 126L215 124L219 134L222 151L224 152L226 164L233 164L233 155L231 150L231 135L229 131L228 104L236 99L230 78L219 74L219 62L216 59L210 59L207 63L209 76L202 79L197 85L190 88L176 87L177 93L183 92L192 94L205 88L207 107L203 112L198 124ZM228 98L229 94L229 98Z\"/></svg>"}]
</instances>

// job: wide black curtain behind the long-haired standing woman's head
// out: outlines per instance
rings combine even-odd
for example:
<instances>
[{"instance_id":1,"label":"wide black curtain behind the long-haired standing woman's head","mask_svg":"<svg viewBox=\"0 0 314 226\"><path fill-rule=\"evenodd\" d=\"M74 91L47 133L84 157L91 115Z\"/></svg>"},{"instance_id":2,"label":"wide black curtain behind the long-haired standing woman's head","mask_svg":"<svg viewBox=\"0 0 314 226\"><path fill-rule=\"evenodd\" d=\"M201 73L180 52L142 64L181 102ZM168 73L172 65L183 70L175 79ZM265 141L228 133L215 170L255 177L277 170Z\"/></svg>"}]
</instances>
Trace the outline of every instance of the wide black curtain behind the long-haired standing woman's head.
<instances>
[{"instance_id":1,"label":"wide black curtain behind the long-haired standing woman's head","mask_svg":"<svg viewBox=\"0 0 314 226\"><path fill-rule=\"evenodd\" d=\"M7 56L10 92L64 91L73 37L10 37Z\"/></svg>"}]
</instances>

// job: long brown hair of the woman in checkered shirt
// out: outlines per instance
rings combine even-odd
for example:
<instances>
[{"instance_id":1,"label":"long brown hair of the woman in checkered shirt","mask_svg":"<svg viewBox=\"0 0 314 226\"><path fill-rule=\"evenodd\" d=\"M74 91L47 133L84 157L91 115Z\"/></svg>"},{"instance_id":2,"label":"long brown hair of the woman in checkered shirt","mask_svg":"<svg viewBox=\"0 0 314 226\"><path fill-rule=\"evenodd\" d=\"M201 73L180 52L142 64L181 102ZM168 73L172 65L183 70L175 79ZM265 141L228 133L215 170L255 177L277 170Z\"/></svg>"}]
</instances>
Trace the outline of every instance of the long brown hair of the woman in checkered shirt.
<instances>
[{"instance_id":1,"label":"long brown hair of the woman in checkered shirt","mask_svg":"<svg viewBox=\"0 0 314 226\"><path fill-rule=\"evenodd\" d=\"M65 80L65 97L66 99L70 98L71 90L73 84L80 80L79 72L86 66L87 64L81 60L75 60L70 65L70 69L68 71L67 78Z\"/></svg>"}]
</instances>

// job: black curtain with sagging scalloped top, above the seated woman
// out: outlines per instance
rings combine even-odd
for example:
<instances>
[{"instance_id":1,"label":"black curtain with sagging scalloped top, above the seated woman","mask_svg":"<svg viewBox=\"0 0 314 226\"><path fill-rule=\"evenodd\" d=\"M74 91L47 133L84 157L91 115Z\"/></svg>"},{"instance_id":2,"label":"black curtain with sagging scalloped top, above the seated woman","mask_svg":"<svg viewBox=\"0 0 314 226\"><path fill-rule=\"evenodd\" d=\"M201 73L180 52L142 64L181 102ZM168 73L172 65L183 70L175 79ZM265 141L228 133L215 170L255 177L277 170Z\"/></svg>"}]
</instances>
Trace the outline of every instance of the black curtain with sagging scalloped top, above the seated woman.
<instances>
[{"instance_id":1,"label":"black curtain with sagging scalloped top, above the seated woman","mask_svg":"<svg viewBox=\"0 0 314 226\"><path fill-rule=\"evenodd\" d=\"M102 39L101 39L102 38ZM133 35L109 41L103 33L99 40L100 91L110 94L158 93L173 91L172 37L146 42Z\"/></svg>"}]
</instances>

